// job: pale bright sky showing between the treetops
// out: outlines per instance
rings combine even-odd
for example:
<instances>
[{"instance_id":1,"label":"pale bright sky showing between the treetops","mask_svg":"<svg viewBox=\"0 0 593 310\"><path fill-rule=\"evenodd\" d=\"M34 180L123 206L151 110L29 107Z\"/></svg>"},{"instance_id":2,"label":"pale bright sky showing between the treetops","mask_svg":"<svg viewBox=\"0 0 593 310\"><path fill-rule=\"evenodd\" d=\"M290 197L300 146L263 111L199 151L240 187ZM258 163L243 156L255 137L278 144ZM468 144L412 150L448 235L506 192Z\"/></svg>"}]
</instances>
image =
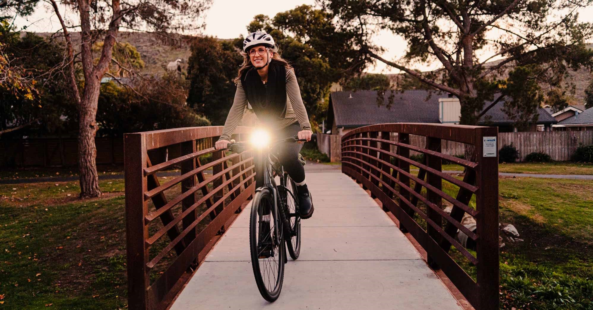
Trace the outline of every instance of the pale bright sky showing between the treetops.
<instances>
[{"instance_id":1,"label":"pale bright sky showing between the treetops","mask_svg":"<svg viewBox=\"0 0 593 310\"><path fill-rule=\"evenodd\" d=\"M231 39L238 37L240 34L247 35L247 24L253 20L257 14L268 15L273 17L278 12L288 11L302 4L314 5L315 0L283 0L283 1L245 1L245 0L213 0L210 9L206 11L205 22L206 28L204 34L218 37L220 39ZM72 14L64 14L65 7L60 7L62 16ZM71 12L72 13L72 12ZM593 7L586 8L580 13L581 21L593 22ZM17 17L15 20L17 27L27 26L27 31L34 32L54 32L58 31L60 23L58 19L50 10L46 2L40 1L36 11L33 15L27 18ZM381 56L388 60L399 58L406 51L406 42L399 36L396 36L388 31L381 31L373 38L375 43L380 44L386 48L386 52ZM282 49L282 46L280 46ZM482 55L487 58L487 55ZM494 60L494 59L493 59ZM439 64L419 65L414 67L422 71L428 71L440 67ZM369 67L366 71L372 73L397 73L397 69L393 69L382 62L377 62L375 67Z\"/></svg>"}]
</instances>

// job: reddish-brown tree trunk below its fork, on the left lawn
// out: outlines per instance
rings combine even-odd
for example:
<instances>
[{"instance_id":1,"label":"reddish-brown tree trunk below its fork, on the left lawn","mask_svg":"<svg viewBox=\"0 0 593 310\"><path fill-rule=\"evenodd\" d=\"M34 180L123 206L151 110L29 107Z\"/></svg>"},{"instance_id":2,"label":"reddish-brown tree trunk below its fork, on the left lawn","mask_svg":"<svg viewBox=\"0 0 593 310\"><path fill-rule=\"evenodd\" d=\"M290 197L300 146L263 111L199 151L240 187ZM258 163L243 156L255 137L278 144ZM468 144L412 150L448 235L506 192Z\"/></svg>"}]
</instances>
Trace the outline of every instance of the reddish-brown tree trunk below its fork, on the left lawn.
<instances>
[{"instance_id":1,"label":"reddish-brown tree trunk below its fork, on the left lawn","mask_svg":"<svg viewBox=\"0 0 593 310\"><path fill-rule=\"evenodd\" d=\"M78 169L80 179L80 198L99 197L99 179L97 173L97 147L95 134L97 133L97 105L100 80L97 77L85 81L84 95L78 111Z\"/></svg>"}]
</instances>

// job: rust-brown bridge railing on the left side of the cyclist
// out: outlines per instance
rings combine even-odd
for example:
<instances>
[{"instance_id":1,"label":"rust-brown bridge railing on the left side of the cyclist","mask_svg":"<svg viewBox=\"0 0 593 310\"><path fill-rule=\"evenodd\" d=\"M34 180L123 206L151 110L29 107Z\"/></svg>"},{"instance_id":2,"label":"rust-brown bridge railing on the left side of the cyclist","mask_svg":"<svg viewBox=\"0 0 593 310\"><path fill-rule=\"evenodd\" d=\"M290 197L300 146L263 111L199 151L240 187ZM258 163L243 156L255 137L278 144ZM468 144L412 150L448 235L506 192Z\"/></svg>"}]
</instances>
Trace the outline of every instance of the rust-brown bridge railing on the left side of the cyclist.
<instances>
[{"instance_id":1,"label":"rust-brown bridge railing on the left side of the cyclist","mask_svg":"<svg viewBox=\"0 0 593 310\"><path fill-rule=\"evenodd\" d=\"M249 130L237 128L235 140ZM124 136L129 309L167 308L253 194L253 157L215 151L221 134L208 126ZM211 162L200 163L204 156ZM179 175L161 184L156 173L174 167Z\"/></svg>"}]
</instances>

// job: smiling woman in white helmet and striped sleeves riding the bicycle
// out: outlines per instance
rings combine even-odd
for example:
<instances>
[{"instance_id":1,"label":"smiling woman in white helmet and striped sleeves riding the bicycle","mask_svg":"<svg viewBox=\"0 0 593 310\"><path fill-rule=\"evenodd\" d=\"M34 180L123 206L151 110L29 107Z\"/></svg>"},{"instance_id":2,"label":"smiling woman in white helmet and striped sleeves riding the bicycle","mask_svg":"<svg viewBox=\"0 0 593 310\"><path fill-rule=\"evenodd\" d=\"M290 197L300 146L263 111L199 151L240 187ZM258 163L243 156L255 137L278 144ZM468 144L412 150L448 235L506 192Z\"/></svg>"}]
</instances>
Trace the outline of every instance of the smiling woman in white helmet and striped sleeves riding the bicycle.
<instances>
[{"instance_id":1,"label":"smiling woman in white helmet and striped sleeves riding the bicycle","mask_svg":"<svg viewBox=\"0 0 593 310\"><path fill-rule=\"evenodd\" d=\"M235 83L237 91L231 110L225 121L222 135L216 141L217 149L226 148L232 132L241 122L247 101L256 113L258 126L266 126L276 138L298 135L299 139L311 140L311 124L294 69L280 58L278 46L270 34L256 31L243 41L243 64ZM298 160L301 143L280 145L279 160L288 175L297 185L299 215L308 219L313 215L311 193L305 184L305 169ZM256 175L262 176L263 167L256 166ZM261 186L261 179L256 186Z\"/></svg>"}]
</instances>

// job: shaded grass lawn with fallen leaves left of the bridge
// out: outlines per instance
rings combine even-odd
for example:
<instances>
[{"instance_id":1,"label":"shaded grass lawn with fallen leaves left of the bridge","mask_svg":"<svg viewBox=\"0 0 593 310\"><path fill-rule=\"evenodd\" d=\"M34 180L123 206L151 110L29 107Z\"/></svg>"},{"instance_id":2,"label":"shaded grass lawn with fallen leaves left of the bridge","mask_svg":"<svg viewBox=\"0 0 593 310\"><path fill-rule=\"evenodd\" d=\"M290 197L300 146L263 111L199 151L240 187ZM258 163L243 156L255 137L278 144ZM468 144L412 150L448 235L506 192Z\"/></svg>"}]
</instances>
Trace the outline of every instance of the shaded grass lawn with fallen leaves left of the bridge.
<instances>
[{"instance_id":1,"label":"shaded grass lawn with fallen leaves left of the bridge","mask_svg":"<svg viewBox=\"0 0 593 310\"><path fill-rule=\"evenodd\" d=\"M87 201L56 184L0 186L0 309L124 308L123 180Z\"/></svg>"}]
</instances>

